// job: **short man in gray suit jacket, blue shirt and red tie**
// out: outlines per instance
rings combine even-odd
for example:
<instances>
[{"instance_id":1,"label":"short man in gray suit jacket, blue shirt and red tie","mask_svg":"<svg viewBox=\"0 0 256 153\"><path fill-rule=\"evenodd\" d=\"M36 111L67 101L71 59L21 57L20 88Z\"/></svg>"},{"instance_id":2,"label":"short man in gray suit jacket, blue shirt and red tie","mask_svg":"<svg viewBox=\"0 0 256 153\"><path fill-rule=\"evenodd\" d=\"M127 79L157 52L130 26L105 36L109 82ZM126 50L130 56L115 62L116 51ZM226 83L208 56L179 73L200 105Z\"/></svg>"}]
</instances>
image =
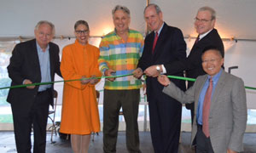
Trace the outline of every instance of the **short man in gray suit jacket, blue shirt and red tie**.
<instances>
[{"instance_id":1,"label":"short man in gray suit jacket, blue shirt and red tie","mask_svg":"<svg viewBox=\"0 0 256 153\"><path fill-rule=\"evenodd\" d=\"M186 92L166 76L158 77L158 81L166 86L163 89L165 94L181 103L195 101L196 122L193 122L191 144L196 144L197 153L241 152L247 126L244 83L241 78L223 70L224 58L218 48L206 48L201 59L207 75L197 77Z\"/></svg>"}]
</instances>

